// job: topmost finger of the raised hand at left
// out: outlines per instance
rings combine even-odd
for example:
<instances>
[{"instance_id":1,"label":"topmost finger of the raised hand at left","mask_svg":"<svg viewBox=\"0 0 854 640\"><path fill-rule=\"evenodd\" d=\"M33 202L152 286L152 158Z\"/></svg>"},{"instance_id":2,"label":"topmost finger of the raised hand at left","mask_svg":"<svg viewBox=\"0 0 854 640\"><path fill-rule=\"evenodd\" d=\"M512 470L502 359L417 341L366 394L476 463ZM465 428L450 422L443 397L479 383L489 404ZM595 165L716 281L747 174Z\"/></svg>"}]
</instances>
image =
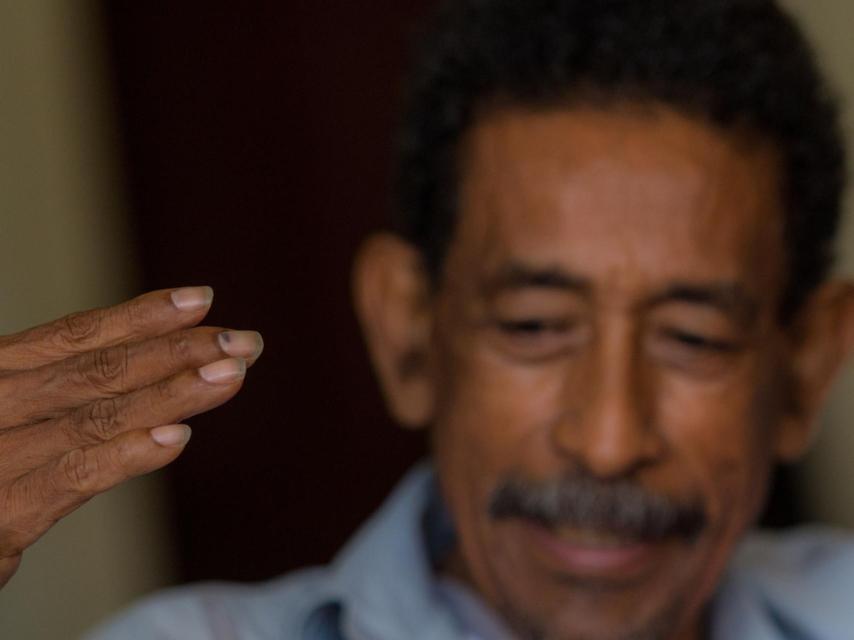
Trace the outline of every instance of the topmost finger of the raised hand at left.
<instances>
[{"instance_id":1,"label":"topmost finger of the raised hand at left","mask_svg":"<svg viewBox=\"0 0 854 640\"><path fill-rule=\"evenodd\" d=\"M191 327L207 315L210 287L162 289L114 307L82 311L0 337L0 370L33 369L129 340Z\"/></svg>"}]
</instances>

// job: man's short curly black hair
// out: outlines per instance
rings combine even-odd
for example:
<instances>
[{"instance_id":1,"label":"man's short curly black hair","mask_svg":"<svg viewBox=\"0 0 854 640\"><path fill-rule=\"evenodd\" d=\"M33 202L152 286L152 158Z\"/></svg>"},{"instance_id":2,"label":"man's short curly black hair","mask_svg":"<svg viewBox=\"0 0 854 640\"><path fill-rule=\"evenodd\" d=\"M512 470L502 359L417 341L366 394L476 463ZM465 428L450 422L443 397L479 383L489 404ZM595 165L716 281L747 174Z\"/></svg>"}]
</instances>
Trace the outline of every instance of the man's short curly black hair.
<instances>
[{"instance_id":1,"label":"man's short curly black hair","mask_svg":"<svg viewBox=\"0 0 854 640\"><path fill-rule=\"evenodd\" d=\"M395 230L434 282L454 232L456 156L479 109L655 102L776 145L791 317L833 263L845 186L836 101L773 0L450 0L416 50L399 138Z\"/></svg>"}]
</instances>

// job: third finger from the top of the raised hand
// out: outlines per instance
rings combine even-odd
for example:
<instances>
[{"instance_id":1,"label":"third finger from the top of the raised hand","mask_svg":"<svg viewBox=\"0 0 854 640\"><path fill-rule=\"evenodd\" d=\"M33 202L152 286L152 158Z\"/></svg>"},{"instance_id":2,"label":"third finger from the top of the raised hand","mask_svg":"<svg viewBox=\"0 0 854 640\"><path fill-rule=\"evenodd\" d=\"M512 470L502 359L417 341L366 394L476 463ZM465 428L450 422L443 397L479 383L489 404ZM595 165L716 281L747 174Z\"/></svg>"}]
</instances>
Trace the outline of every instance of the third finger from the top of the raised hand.
<instances>
[{"instance_id":1,"label":"third finger from the top of the raised hand","mask_svg":"<svg viewBox=\"0 0 854 640\"><path fill-rule=\"evenodd\" d=\"M55 420L7 432L5 448L31 468L41 466L72 449L105 443L132 430L178 423L213 409L240 390L245 375L246 365L237 358L183 371L133 393L102 398Z\"/></svg>"}]
</instances>

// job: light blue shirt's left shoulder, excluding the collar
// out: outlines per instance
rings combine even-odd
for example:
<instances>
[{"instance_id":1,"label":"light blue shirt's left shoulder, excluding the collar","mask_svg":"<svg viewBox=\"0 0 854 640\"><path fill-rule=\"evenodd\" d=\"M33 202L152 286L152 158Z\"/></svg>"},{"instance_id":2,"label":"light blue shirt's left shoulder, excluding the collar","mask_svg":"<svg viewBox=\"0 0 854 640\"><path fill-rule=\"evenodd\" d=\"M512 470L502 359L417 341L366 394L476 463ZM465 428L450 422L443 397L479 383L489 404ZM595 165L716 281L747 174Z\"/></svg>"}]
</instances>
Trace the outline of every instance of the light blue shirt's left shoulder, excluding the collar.
<instances>
[{"instance_id":1,"label":"light blue shirt's left shoulder, excluding the collar","mask_svg":"<svg viewBox=\"0 0 854 640\"><path fill-rule=\"evenodd\" d=\"M327 599L328 570L308 569L246 585L202 583L167 589L101 627L87 640L266 640L299 637Z\"/></svg>"}]
</instances>

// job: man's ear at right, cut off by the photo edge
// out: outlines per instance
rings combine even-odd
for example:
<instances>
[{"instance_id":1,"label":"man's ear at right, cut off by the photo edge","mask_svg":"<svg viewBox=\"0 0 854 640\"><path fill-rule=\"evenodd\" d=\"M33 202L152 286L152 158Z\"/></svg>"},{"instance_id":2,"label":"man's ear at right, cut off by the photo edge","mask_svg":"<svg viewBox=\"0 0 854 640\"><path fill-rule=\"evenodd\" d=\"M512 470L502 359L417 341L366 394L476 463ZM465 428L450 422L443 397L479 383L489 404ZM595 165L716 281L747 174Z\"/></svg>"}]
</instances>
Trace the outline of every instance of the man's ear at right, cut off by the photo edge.
<instances>
[{"instance_id":1,"label":"man's ear at right, cut off by the photo edge","mask_svg":"<svg viewBox=\"0 0 854 640\"><path fill-rule=\"evenodd\" d=\"M793 325L791 344L791 402L776 446L782 461L809 448L827 394L854 350L854 283L823 285Z\"/></svg>"}]
</instances>

